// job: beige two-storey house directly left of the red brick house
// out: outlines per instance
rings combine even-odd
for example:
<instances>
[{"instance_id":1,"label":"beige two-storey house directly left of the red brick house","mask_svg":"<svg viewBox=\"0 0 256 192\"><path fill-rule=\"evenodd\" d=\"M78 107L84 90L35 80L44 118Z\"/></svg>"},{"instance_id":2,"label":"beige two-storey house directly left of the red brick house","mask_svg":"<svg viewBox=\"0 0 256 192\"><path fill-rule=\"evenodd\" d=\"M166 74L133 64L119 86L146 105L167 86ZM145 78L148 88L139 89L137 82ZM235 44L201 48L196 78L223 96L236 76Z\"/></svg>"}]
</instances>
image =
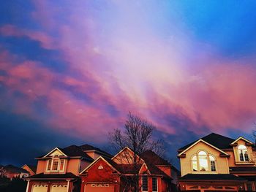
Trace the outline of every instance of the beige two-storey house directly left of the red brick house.
<instances>
[{"instance_id":1,"label":"beige two-storey house directly left of the red brick house","mask_svg":"<svg viewBox=\"0 0 256 192\"><path fill-rule=\"evenodd\" d=\"M31 175L26 192L80 191L81 170L89 166L97 155L109 157L109 153L91 145L56 147L37 159L36 174Z\"/></svg>"}]
</instances>

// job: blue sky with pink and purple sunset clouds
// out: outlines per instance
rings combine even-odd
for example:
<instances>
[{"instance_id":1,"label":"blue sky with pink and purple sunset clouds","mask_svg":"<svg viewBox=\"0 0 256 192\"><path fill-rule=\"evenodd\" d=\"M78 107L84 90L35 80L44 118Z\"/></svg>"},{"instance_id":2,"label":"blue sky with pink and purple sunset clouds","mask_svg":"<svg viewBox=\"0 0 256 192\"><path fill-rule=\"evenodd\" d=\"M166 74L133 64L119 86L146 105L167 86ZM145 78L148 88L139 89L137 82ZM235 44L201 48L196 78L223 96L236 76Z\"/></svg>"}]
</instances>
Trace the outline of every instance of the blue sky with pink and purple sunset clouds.
<instances>
[{"instance_id":1,"label":"blue sky with pink and purple sunset clouds","mask_svg":"<svg viewBox=\"0 0 256 192\"><path fill-rule=\"evenodd\" d=\"M108 148L132 112L168 158L215 132L251 139L256 1L0 2L0 164Z\"/></svg>"}]
</instances>

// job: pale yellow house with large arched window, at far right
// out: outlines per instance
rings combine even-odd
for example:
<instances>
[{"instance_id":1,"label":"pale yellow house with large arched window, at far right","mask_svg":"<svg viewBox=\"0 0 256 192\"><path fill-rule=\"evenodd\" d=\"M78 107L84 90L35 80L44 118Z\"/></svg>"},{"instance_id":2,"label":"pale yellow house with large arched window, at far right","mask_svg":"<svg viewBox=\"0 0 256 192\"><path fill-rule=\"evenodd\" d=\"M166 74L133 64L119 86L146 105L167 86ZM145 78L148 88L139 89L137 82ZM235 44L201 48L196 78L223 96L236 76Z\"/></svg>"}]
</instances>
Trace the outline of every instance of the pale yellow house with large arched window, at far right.
<instances>
[{"instance_id":1,"label":"pale yellow house with large arched window, at far right","mask_svg":"<svg viewBox=\"0 0 256 192\"><path fill-rule=\"evenodd\" d=\"M255 144L208 134L178 149L181 191L256 191Z\"/></svg>"}]
</instances>

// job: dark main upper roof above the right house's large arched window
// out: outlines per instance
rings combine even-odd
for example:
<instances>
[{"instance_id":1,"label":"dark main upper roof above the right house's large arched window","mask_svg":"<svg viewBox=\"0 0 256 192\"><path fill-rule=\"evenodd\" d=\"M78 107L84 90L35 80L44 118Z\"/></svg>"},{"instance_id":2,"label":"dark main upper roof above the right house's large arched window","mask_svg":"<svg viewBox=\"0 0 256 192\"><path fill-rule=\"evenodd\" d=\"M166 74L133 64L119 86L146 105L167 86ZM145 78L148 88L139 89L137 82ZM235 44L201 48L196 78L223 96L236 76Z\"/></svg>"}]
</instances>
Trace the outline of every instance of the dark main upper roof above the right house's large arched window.
<instances>
[{"instance_id":1,"label":"dark main upper roof above the right house's large arched window","mask_svg":"<svg viewBox=\"0 0 256 192\"><path fill-rule=\"evenodd\" d=\"M230 144L235 141L235 139L231 139L229 137L222 136L220 134L211 133L206 135L205 137L202 137L200 139L203 139L205 142L208 142L211 145L214 145L214 147L217 147L219 149L229 149L232 148ZM197 139L199 140L199 139ZM197 142L195 140L194 142L189 143L188 145L185 145L184 147L179 148L178 150L186 150L187 147Z\"/></svg>"}]
</instances>

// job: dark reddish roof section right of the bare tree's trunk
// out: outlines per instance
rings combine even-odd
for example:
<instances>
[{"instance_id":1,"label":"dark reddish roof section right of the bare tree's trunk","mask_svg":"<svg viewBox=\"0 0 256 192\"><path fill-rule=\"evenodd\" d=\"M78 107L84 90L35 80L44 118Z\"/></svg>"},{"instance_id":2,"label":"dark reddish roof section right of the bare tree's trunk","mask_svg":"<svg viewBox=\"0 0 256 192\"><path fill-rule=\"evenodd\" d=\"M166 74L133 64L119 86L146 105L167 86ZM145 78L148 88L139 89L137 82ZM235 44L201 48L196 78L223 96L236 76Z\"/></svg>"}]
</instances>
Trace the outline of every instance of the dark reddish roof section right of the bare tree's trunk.
<instances>
[{"instance_id":1,"label":"dark reddish roof section right of the bare tree's trunk","mask_svg":"<svg viewBox=\"0 0 256 192\"><path fill-rule=\"evenodd\" d=\"M154 153L152 150L146 150L145 152L143 152L140 155L140 157L143 158L143 160L149 164L170 166L168 161L161 158L159 155Z\"/></svg>"}]
</instances>

